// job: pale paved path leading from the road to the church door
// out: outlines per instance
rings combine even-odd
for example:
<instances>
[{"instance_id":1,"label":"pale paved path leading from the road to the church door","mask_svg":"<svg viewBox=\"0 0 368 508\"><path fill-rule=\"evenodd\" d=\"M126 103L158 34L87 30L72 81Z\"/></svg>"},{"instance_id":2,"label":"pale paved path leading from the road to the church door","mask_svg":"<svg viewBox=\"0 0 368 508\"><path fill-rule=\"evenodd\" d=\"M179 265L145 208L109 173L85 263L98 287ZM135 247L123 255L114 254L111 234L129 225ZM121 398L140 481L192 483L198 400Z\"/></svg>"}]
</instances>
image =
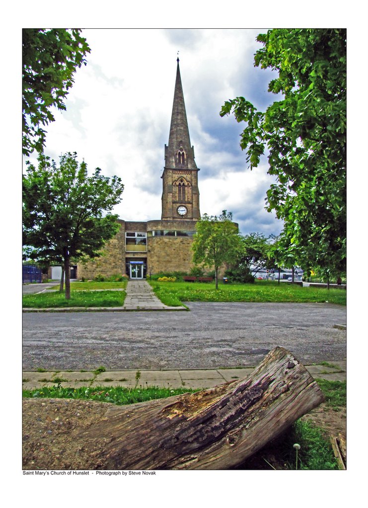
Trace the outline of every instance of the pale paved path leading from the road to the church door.
<instances>
[{"instance_id":1,"label":"pale paved path leading from the road to the church door","mask_svg":"<svg viewBox=\"0 0 368 508\"><path fill-rule=\"evenodd\" d=\"M123 310L186 310L185 307L169 307L163 304L146 280L130 280Z\"/></svg>"}]
</instances>

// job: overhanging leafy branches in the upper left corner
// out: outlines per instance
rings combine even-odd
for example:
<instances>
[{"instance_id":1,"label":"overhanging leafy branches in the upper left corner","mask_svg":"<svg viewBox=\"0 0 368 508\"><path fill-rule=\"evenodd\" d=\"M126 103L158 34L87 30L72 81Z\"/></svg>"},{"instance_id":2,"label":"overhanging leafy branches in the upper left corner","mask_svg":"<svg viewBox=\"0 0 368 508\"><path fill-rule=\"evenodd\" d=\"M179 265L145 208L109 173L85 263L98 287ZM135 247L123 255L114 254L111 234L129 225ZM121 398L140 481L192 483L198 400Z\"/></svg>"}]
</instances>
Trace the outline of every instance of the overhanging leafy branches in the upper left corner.
<instances>
[{"instance_id":1,"label":"overhanging leafy branches in the upper left corner","mask_svg":"<svg viewBox=\"0 0 368 508\"><path fill-rule=\"evenodd\" d=\"M65 110L64 99L74 73L90 52L79 28L23 29L23 153L43 152L46 132L54 121L50 109Z\"/></svg>"}]
</instances>

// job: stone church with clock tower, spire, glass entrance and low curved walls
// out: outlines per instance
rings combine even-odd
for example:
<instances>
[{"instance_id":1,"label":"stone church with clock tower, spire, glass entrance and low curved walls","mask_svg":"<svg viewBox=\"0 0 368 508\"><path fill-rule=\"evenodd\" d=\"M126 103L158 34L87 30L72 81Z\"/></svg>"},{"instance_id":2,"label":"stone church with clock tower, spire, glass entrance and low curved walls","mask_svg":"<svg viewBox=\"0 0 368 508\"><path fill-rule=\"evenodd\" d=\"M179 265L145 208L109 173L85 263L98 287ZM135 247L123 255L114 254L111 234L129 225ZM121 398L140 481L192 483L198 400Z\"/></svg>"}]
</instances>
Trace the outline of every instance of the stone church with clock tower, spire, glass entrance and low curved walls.
<instances>
[{"instance_id":1,"label":"stone church with clock tower, spire, glass entrance and low curved walls","mask_svg":"<svg viewBox=\"0 0 368 508\"><path fill-rule=\"evenodd\" d=\"M165 145L161 220L118 219L120 229L104 255L78 265L78 278L127 274L130 278L193 267L191 245L200 218L198 171L191 146L177 59L169 143Z\"/></svg>"}]
</instances>

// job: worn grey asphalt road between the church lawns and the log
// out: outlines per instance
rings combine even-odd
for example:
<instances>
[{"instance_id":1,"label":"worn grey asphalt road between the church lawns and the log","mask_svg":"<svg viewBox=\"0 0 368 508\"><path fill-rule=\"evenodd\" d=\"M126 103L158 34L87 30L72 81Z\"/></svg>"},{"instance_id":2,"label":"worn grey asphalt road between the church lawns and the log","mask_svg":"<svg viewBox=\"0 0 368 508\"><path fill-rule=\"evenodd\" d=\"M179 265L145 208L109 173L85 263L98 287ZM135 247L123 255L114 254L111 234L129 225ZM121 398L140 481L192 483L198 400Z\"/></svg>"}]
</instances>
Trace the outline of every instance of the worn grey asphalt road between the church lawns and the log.
<instances>
[{"instance_id":1,"label":"worn grey asphalt road between the church lawns and the log","mask_svg":"<svg viewBox=\"0 0 368 508\"><path fill-rule=\"evenodd\" d=\"M346 358L346 308L188 304L190 312L23 314L23 369L203 369L257 365L279 345L304 364Z\"/></svg>"}]
</instances>

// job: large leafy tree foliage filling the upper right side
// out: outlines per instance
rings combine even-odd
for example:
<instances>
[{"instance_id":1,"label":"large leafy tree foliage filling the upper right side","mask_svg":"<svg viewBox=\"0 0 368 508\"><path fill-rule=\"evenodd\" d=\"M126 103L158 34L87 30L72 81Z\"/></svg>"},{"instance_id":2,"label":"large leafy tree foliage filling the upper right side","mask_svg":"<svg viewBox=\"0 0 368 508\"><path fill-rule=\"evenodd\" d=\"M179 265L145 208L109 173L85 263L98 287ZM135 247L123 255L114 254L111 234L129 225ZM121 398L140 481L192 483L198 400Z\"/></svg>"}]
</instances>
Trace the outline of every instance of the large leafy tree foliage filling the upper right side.
<instances>
[{"instance_id":1,"label":"large leafy tree foliage filling the upper right side","mask_svg":"<svg viewBox=\"0 0 368 508\"><path fill-rule=\"evenodd\" d=\"M346 30L272 29L255 66L278 71L268 91L281 92L265 112L237 97L233 111L246 122L240 146L251 169L269 151L267 210L284 220L295 262L329 273L346 271Z\"/></svg>"}]
</instances>

